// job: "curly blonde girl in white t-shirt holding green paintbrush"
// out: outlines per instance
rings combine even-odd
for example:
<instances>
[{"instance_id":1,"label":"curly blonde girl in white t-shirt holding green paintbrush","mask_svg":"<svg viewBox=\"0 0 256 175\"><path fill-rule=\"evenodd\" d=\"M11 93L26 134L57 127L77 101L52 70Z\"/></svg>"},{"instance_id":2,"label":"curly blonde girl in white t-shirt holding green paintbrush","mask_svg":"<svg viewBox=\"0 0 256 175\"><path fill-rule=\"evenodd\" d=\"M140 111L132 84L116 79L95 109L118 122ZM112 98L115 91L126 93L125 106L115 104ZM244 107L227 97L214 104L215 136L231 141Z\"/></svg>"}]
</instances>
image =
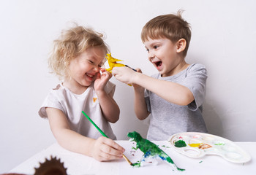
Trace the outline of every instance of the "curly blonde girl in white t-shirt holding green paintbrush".
<instances>
[{"instance_id":1,"label":"curly blonde girl in white t-shirt holding green paintbrush","mask_svg":"<svg viewBox=\"0 0 256 175\"><path fill-rule=\"evenodd\" d=\"M116 86L109 82L112 75L102 69L107 52L102 34L83 26L63 31L53 42L48 60L50 69L62 82L50 90L39 109L62 147L99 161L122 158L124 152L113 141L116 136L109 124L116 123L120 111L113 99ZM101 136L82 111L110 139Z\"/></svg>"}]
</instances>

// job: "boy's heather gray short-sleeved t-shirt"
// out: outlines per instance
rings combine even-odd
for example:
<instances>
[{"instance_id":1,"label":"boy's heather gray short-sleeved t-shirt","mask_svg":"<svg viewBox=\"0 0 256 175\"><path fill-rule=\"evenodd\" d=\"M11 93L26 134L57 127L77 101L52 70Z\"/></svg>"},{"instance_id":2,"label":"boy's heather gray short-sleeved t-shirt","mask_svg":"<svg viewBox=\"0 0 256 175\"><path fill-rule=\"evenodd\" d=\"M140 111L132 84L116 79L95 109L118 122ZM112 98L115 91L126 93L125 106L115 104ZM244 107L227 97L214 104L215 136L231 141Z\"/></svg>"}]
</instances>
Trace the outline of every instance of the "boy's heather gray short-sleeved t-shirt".
<instances>
[{"instance_id":1,"label":"boy's heather gray short-sleeved t-shirt","mask_svg":"<svg viewBox=\"0 0 256 175\"><path fill-rule=\"evenodd\" d=\"M170 77L161 77L160 74L154 74L152 77L186 86L193 93L195 101L187 106L179 106L145 90L148 112L151 112L147 139L167 140L173 134L181 132L206 133L202 115L202 105L206 96L206 67L202 64L192 64Z\"/></svg>"}]
</instances>

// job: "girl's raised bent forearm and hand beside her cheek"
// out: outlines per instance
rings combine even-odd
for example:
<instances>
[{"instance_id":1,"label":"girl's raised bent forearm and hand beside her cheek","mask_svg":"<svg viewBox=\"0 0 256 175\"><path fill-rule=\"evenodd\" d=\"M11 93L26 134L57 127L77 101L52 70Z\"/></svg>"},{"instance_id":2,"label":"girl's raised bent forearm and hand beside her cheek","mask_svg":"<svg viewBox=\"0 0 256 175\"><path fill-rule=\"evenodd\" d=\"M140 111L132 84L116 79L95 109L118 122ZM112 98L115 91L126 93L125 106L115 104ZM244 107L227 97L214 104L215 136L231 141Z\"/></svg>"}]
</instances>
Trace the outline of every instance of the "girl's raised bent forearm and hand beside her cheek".
<instances>
[{"instance_id":1,"label":"girl's raised bent forearm and hand beside her cheek","mask_svg":"<svg viewBox=\"0 0 256 175\"><path fill-rule=\"evenodd\" d=\"M102 71L102 75L98 74L98 77L94 82L94 90L97 93L104 117L110 123L116 123L119 119L120 109L113 99L113 96L107 94L104 90L105 85L112 77L112 74L105 69L101 69L100 71Z\"/></svg>"}]
</instances>

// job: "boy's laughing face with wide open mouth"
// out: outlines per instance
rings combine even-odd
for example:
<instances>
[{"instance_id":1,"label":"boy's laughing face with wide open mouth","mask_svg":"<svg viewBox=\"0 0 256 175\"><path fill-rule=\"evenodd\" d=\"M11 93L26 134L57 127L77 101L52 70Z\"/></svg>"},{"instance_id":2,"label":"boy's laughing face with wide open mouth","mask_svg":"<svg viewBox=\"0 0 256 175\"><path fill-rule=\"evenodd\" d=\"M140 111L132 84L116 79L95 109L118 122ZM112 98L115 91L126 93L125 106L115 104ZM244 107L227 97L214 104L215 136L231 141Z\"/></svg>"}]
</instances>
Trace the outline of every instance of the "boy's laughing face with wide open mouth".
<instances>
[{"instance_id":1,"label":"boy's laughing face with wide open mouth","mask_svg":"<svg viewBox=\"0 0 256 175\"><path fill-rule=\"evenodd\" d=\"M167 38L148 38L144 44L148 51L148 60L153 63L162 77L178 73L184 58L178 55L176 43Z\"/></svg>"}]
</instances>

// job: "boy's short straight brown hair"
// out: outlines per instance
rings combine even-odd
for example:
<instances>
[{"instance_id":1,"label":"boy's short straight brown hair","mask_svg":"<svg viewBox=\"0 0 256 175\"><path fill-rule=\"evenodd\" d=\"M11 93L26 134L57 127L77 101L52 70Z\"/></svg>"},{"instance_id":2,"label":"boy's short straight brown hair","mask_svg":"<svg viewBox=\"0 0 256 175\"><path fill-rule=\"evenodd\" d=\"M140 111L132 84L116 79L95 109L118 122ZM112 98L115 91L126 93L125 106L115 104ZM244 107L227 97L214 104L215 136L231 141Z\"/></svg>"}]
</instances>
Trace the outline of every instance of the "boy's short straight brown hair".
<instances>
[{"instance_id":1,"label":"boy's short straight brown hair","mask_svg":"<svg viewBox=\"0 0 256 175\"><path fill-rule=\"evenodd\" d=\"M146 42L148 38L159 39L165 37L171 42L178 42L179 39L185 39L187 44L184 50L184 56L187 55L191 31L189 23L181 18L183 10L178 10L177 15L167 14L159 15L146 23L141 31L141 39Z\"/></svg>"}]
</instances>

